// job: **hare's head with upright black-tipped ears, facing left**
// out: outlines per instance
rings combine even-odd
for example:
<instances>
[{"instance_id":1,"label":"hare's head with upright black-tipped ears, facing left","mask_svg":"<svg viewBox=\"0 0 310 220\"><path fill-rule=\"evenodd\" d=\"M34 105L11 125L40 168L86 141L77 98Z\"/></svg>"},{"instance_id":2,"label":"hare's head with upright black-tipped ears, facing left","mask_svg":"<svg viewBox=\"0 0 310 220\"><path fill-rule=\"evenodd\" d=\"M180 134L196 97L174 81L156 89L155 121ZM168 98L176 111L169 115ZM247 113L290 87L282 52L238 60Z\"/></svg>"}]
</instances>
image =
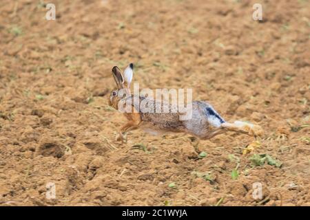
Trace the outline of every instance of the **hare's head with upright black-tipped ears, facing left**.
<instances>
[{"instance_id":1,"label":"hare's head with upright black-tipped ears, facing left","mask_svg":"<svg viewBox=\"0 0 310 220\"><path fill-rule=\"evenodd\" d=\"M118 109L118 102L123 96L130 95L130 83L132 83L132 76L134 74L134 65L130 63L121 74L121 70L118 67L112 68L112 75L114 77L116 88L110 94L109 105Z\"/></svg>"}]
</instances>

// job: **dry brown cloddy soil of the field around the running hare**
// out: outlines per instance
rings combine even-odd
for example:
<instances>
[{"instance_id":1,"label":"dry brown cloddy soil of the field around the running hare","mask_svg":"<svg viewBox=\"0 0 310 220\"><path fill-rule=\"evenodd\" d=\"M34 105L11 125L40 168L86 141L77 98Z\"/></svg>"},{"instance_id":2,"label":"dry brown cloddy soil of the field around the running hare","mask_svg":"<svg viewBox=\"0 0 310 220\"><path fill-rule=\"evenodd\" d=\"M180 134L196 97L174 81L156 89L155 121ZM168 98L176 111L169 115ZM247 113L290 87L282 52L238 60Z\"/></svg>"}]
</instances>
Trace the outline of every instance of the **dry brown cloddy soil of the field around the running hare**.
<instances>
[{"instance_id":1,"label":"dry brown cloddy soil of the field around the running hare","mask_svg":"<svg viewBox=\"0 0 310 220\"><path fill-rule=\"evenodd\" d=\"M261 1L262 22L247 0L54 0L56 21L42 2L0 5L1 206L309 206L309 1ZM115 142L111 69L130 62L141 87L194 88L226 120L260 124L260 148L242 155L254 137L236 133L201 141L202 159L181 133ZM252 168L254 153L283 165Z\"/></svg>"}]
</instances>

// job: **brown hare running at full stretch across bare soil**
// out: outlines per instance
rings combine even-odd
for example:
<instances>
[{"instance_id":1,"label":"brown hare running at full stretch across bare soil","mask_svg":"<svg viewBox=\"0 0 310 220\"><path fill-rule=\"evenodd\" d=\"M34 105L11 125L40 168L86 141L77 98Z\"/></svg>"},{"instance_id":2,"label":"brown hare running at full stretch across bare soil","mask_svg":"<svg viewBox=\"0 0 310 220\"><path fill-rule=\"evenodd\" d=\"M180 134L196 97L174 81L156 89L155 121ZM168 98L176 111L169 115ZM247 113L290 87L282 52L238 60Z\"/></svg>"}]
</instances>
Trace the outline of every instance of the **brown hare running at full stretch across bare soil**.
<instances>
[{"instance_id":1,"label":"brown hare running at full stretch across bare soil","mask_svg":"<svg viewBox=\"0 0 310 220\"><path fill-rule=\"evenodd\" d=\"M118 67L112 68L112 75L117 88L110 95L109 105L120 110L120 102L123 102L127 104L127 110L128 106L130 110L123 112L128 121L116 135L118 141L127 142L127 132L139 127L154 131L189 133L200 140L209 139L225 131L247 133L254 136L260 136L263 133L262 128L256 124L240 121L226 122L211 104L203 101L192 102L192 117L188 120L180 120L181 113L172 111L174 109L169 103L156 102L152 98L141 95L135 96L131 93L130 83L133 78L133 70L134 65L132 63L125 69L123 74ZM165 113L143 111L143 109L139 108L138 103L145 101L147 104L154 104L154 106L161 105L161 108L167 107L169 111Z\"/></svg>"}]
</instances>

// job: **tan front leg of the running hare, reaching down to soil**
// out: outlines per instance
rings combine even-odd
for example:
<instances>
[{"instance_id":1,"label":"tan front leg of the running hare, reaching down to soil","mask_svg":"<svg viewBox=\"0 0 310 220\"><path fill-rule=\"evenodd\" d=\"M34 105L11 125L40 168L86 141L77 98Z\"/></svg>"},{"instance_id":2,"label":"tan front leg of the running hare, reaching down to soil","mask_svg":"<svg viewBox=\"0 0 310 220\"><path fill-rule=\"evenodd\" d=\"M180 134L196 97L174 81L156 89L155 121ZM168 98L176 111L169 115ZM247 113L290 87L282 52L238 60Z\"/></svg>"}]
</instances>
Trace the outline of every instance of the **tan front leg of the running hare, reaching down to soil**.
<instances>
[{"instance_id":1,"label":"tan front leg of the running hare, reaching down to soil","mask_svg":"<svg viewBox=\"0 0 310 220\"><path fill-rule=\"evenodd\" d=\"M125 116L129 121L121 127L121 131L116 135L116 141L121 140L123 143L127 143L127 132L137 129L141 123L139 113L126 113Z\"/></svg>"}]
</instances>

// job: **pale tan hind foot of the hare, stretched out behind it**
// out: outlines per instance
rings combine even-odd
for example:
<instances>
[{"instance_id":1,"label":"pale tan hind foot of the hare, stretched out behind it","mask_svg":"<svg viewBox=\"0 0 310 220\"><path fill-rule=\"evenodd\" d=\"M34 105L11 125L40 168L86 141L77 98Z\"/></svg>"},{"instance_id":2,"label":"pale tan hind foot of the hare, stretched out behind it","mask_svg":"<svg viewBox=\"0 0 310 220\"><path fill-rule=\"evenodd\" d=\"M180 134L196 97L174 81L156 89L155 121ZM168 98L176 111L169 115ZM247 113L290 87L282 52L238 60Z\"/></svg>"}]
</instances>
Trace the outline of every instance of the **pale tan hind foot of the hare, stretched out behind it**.
<instances>
[{"instance_id":1,"label":"pale tan hind foot of the hare, stretched out behind it","mask_svg":"<svg viewBox=\"0 0 310 220\"><path fill-rule=\"evenodd\" d=\"M236 121L234 123L224 122L220 124L220 126L228 131L247 133L252 136L262 136L264 133L261 126L257 124L251 124L249 122L240 122L240 121Z\"/></svg>"}]
</instances>

